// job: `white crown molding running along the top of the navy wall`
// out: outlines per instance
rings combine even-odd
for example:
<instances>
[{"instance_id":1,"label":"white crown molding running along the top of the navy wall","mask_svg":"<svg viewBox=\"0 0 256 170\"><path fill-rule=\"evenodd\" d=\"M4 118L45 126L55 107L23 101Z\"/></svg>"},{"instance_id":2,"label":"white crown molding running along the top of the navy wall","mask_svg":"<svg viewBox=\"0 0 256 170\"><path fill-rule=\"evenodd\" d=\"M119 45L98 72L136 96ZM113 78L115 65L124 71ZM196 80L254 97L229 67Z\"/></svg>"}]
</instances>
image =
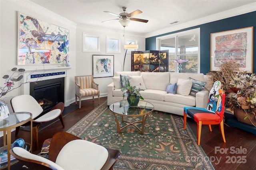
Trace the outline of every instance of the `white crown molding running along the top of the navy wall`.
<instances>
[{"instance_id":1,"label":"white crown molding running along the top of the navy wall","mask_svg":"<svg viewBox=\"0 0 256 170\"><path fill-rule=\"evenodd\" d=\"M199 19L196 19L196 20L193 20L193 21L189 21L189 22L186 22L186 23L180 23L178 25L174 25L172 27L168 27L168 28L165 28L165 29L160 29L158 31L154 31L154 32L151 32L151 33L147 33L145 35L145 37L146 38L153 37L153 36L161 35L161 34L164 34L164 33L169 33L169 32L172 32L172 31L178 31L180 29L185 29L185 28L188 28L188 27L201 25L201 24L204 24L204 23L209 23L209 22L213 22L213 21L222 20L222 19L225 19L225 18L239 16L239 15L246 14L246 13L249 13L249 12L254 12L254 11L256 11L255 6L256 6L256 2L254 2L252 4L245 5L245 6L240 6L238 8L234 8L234 9L231 9L231 10L227 10L227 11L224 11L224 12L220 12L220 13L217 13L217 14L213 14L213 15L210 15L210 16L206 16L206 17L203 17L203 18L199 18Z\"/></svg>"}]
</instances>

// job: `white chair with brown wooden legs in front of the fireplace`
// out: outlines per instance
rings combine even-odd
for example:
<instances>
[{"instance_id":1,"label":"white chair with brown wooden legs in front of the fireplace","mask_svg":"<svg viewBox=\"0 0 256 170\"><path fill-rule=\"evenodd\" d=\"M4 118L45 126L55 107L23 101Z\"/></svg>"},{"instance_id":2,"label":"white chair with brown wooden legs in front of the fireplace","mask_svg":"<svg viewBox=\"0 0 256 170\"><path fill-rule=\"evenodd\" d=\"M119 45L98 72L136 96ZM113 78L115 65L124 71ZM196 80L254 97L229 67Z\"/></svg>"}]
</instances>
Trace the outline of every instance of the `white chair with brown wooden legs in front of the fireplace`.
<instances>
[{"instance_id":1,"label":"white chair with brown wooden legs in front of the fireplace","mask_svg":"<svg viewBox=\"0 0 256 170\"><path fill-rule=\"evenodd\" d=\"M48 121L52 121L59 117L62 126L65 127L62 111L64 109L64 103L59 102L56 106L54 106L48 113L38 117L43 111L42 107L36 99L34 99L30 95L20 95L11 99L11 106L14 112L29 112L32 113L32 121L33 121L33 141L36 141L36 148L38 149L38 128L39 126ZM38 117L38 118L37 118ZM24 124L23 126L30 126L30 122ZM18 132L20 127L16 127L15 136L18 136Z\"/></svg>"}]
</instances>

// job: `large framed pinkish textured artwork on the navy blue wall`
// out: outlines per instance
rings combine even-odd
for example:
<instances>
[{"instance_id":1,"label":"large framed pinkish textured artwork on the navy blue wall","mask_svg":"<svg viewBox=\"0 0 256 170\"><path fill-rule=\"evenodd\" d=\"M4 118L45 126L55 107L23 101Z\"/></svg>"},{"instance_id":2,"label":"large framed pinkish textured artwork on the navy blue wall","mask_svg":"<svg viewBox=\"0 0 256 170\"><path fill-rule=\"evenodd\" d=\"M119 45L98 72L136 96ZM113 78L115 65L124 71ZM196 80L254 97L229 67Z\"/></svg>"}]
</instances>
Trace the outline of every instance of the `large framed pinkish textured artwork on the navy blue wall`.
<instances>
[{"instance_id":1,"label":"large framed pinkish textured artwork on the navy blue wall","mask_svg":"<svg viewBox=\"0 0 256 170\"><path fill-rule=\"evenodd\" d=\"M247 72L253 72L253 27L211 33L211 71L222 63L234 62Z\"/></svg>"}]
</instances>

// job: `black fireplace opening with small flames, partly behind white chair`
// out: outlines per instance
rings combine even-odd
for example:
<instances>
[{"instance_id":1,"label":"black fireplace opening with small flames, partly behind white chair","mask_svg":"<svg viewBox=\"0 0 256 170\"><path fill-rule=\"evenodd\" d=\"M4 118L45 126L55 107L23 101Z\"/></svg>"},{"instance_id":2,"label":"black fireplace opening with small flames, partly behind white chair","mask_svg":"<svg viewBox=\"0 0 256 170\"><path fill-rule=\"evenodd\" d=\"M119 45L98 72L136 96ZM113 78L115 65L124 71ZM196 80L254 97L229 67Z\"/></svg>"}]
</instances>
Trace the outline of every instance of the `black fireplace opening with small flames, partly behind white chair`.
<instances>
[{"instance_id":1,"label":"black fireplace opening with small flames, partly behind white chair","mask_svg":"<svg viewBox=\"0 0 256 170\"><path fill-rule=\"evenodd\" d=\"M47 113L59 102L64 102L65 78L54 78L30 82L30 95L33 96L44 110L40 116Z\"/></svg>"}]
</instances>

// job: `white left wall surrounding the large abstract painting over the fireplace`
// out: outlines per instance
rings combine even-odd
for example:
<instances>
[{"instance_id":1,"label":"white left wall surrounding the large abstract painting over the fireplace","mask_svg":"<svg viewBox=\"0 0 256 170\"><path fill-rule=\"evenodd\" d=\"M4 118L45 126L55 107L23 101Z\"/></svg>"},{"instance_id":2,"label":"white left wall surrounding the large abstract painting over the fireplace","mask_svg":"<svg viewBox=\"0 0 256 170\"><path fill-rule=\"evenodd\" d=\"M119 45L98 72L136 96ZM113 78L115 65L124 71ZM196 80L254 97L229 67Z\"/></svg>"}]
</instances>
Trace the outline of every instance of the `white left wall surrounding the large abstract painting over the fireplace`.
<instances>
[{"instance_id":1,"label":"white left wall surrounding the large abstract painting over the fireplace","mask_svg":"<svg viewBox=\"0 0 256 170\"><path fill-rule=\"evenodd\" d=\"M57 67L64 67L64 64L54 65L16 65L17 59L17 11L33 16L39 20L43 20L60 27L69 29L69 50L70 50L70 63L72 68L67 70L67 86L74 87L74 76L76 75L76 23L67 20L61 16L54 14L40 6L35 6L34 3L29 1L10 1L0 0L0 86L4 86L5 74L12 74L10 71L13 67L25 68L27 70L33 69L52 69ZM25 75L26 76L26 75ZM15 82L15 86L18 83ZM10 99L14 96L22 94L22 88L17 88L8 92L6 96L1 99L10 107ZM66 94L65 104L69 105L74 101L74 88L69 88Z\"/></svg>"}]
</instances>

